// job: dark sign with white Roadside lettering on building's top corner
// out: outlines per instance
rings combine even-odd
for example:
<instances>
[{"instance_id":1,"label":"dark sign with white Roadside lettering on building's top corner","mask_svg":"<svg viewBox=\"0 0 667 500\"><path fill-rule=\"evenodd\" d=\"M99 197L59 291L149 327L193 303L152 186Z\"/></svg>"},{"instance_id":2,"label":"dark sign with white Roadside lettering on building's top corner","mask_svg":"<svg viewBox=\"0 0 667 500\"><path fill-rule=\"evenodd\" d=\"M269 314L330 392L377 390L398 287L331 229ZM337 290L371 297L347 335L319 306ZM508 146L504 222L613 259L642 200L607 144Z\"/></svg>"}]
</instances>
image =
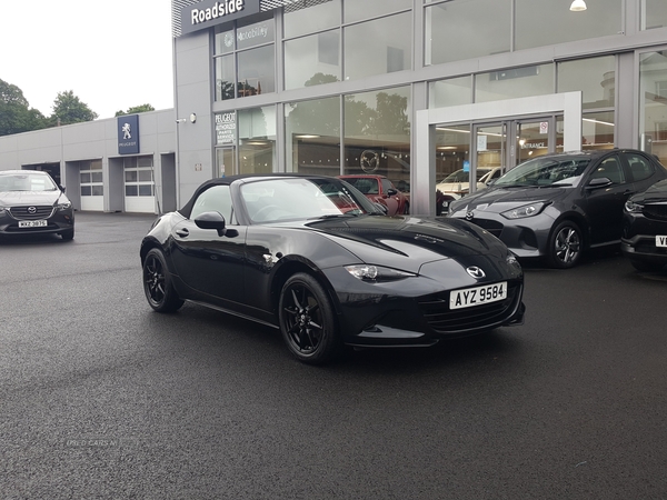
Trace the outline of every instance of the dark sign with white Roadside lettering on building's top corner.
<instances>
[{"instance_id":1,"label":"dark sign with white Roadside lettering on building's top corner","mask_svg":"<svg viewBox=\"0 0 667 500\"><path fill-rule=\"evenodd\" d=\"M203 0L181 10L182 34L259 12L259 0Z\"/></svg>"}]
</instances>

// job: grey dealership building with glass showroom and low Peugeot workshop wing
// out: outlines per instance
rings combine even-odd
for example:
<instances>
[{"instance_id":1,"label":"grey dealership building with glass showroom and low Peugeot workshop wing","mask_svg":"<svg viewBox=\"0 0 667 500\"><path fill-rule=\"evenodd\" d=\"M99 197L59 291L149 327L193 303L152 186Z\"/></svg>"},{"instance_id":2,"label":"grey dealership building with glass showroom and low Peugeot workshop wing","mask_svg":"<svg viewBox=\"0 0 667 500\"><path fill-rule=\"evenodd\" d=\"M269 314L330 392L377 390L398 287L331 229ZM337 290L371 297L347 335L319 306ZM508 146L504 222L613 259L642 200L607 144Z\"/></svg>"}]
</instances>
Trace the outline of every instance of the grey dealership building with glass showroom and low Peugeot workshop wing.
<instances>
[{"instance_id":1,"label":"grey dealership building with glass showroom and low Peugeot workshop wing","mask_svg":"<svg viewBox=\"0 0 667 500\"><path fill-rule=\"evenodd\" d=\"M665 0L172 0L175 108L0 137L79 210L160 213L220 176L386 176L637 148L667 166ZM150 20L147 20L150 22Z\"/></svg>"}]
</instances>

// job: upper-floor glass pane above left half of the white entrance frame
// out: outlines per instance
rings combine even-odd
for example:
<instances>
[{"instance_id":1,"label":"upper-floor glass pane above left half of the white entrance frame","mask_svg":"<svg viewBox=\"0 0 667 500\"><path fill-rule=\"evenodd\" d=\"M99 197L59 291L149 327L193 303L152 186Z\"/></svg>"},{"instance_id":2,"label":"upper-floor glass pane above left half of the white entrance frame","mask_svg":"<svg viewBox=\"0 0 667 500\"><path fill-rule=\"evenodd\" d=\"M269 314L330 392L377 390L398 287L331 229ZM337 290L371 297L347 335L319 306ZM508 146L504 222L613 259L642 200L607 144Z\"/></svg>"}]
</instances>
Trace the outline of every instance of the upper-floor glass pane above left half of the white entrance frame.
<instances>
[{"instance_id":1,"label":"upper-floor glass pane above left half of the white entrance frame","mask_svg":"<svg viewBox=\"0 0 667 500\"><path fill-rule=\"evenodd\" d=\"M535 16L534 9L530 12ZM510 50L511 2L508 0L446 1L428 6L425 16L426 66ZM544 29L542 22L538 24Z\"/></svg>"}]
</instances>

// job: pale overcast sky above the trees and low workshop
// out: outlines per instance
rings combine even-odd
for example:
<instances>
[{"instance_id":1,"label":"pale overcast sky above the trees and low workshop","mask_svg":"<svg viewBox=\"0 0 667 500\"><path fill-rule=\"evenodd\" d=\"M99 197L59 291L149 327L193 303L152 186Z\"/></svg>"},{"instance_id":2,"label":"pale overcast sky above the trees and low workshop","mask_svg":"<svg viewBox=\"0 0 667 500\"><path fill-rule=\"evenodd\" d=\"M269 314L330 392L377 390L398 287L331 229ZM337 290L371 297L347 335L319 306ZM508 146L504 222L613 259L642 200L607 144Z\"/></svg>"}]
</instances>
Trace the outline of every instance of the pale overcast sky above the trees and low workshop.
<instances>
[{"instance_id":1,"label":"pale overcast sky above the trees and low workshop","mask_svg":"<svg viewBox=\"0 0 667 500\"><path fill-rule=\"evenodd\" d=\"M0 80L47 117L67 90L99 118L172 108L171 2L2 1Z\"/></svg>"}]
</instances>

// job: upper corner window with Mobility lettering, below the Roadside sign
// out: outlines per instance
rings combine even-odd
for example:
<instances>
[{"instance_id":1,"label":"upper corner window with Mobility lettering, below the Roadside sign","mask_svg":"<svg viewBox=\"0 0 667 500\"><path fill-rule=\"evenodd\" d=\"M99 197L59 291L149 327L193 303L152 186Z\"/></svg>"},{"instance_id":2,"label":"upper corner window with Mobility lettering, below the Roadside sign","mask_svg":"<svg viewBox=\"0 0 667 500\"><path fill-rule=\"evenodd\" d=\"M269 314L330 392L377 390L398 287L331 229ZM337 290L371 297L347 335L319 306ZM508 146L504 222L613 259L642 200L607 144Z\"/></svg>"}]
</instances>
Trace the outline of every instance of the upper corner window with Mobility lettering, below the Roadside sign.
<instances>
[{"instance_id":1,"label":"upper corner window with Mobility lettering, below the Roadside sign","mask_svg":"<svg viewBox=\"0 0 667 500\"><path fill-rule=\"evenodd\" d=\"M276 91L272 12L215 36L216 100ZM236 61L236 66L235 66Z\"/></svg>"}]
</instances>

